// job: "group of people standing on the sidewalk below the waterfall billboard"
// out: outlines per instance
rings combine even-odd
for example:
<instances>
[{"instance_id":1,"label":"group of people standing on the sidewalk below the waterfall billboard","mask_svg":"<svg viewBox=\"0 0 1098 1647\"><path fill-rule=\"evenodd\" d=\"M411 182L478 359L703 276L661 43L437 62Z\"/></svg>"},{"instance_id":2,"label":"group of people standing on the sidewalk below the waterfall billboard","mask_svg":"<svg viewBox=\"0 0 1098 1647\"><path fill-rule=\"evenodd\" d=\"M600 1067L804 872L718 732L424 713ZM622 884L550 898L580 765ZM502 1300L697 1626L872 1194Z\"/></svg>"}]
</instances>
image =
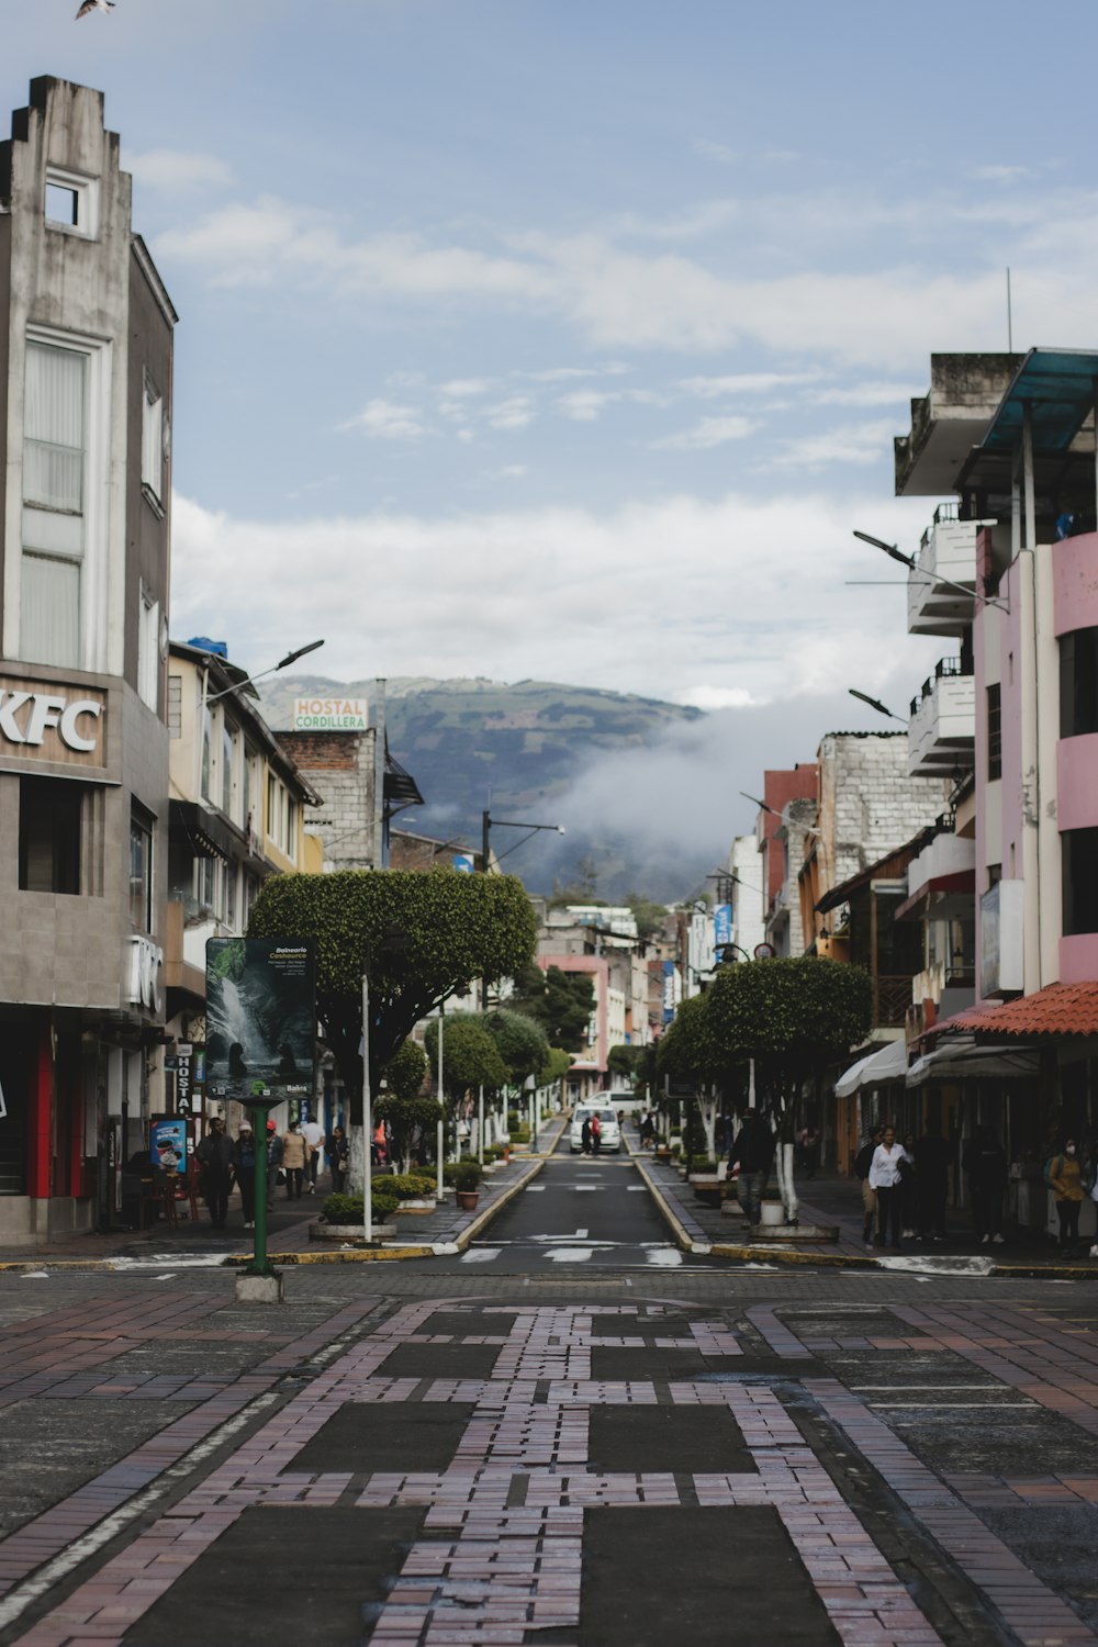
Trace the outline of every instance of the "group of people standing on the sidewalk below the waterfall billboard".
<instances>
[{"instance_id":1,"label":"group of people standing on the sidewalk below the waterfall billboard","mask_svg":"<svg viewBox=\"0 0 1098 1647\"><path fill-rule=\"evenodd\" d=\"M341 1127L333 1127L326 1138L319 1122L290 1122L280 1135L275 1122L267 1122L267 1209L273 1211L275 1189L280 1179L286 1186L286 1199L298 1201L316 1192L321 1153L328 1155L333 1191L342 1191L347 1176L347 1140ZM214 1229L226 1229L229 1196L240 1191L240 1209L245 1230L255 1229L255 1133L247 1117L230 1138L221 1115L214 1115L209 1131L194 1151Z\"/></svg>"}]
</instances>

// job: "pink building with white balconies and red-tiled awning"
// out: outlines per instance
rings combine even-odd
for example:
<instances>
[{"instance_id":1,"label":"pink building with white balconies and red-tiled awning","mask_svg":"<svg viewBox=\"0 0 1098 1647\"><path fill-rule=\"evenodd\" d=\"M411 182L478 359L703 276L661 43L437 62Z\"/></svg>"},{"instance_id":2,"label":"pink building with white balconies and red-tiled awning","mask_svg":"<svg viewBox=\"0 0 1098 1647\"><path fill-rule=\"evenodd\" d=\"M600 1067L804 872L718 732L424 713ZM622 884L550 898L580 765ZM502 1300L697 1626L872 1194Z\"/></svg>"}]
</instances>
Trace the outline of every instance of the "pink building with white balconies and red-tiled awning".
<instances>
[{"instance_id":1,"label":"pink building with white balconies and red-tiled awning","mask_svg":"<svg viewBox=\"0 0 1098 1647\"><path fill-rule=\"evenodd\" d=\"M919 759L951 744L961 769L976 1003L935 1015L912 1079L1039 1153L1098 1118L1098 354L933 356L932 376L896 443L897 491L955 497L912 558L909 626L956 636L970 692L947 703L940 670L912 743ZM951 385L981 380L960 461L943 463ZM958 1036L976 1038L963 1067ZM1006 1077L993 1041L1017 1047Z\"/></svg>"}]
</instances>

